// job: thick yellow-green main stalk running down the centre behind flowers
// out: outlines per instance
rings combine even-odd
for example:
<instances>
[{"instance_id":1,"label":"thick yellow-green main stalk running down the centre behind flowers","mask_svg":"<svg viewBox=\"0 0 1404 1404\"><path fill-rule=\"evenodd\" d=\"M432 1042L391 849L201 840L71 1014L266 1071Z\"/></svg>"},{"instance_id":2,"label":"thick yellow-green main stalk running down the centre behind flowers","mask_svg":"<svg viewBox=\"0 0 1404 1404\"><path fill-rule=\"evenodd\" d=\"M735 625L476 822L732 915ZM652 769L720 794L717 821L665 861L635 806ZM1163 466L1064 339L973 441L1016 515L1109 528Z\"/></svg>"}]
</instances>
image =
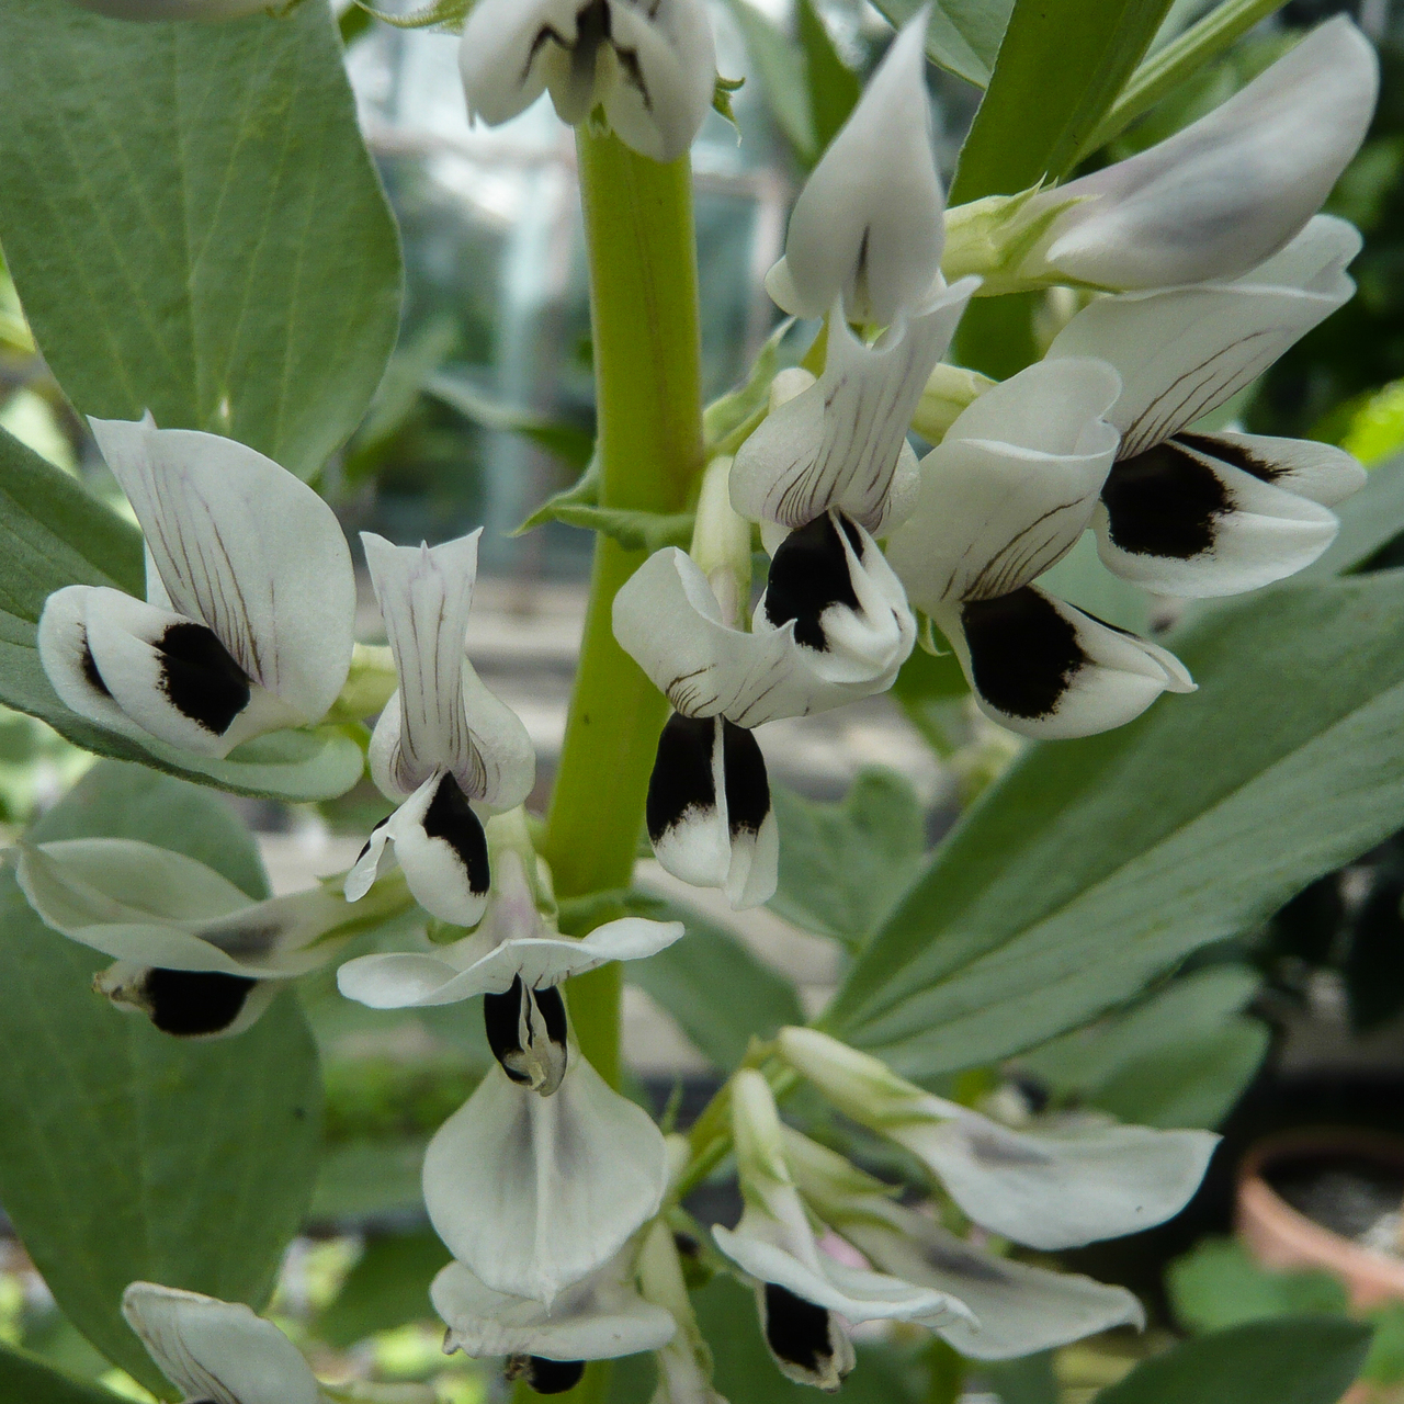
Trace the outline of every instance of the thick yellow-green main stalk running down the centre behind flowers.
<instances>
[{"instance_id":1,"label":"thick yellow-green main stalk running down the centre behind flowers","mask_svg":"<svg viewBox=\"0 0 1404 1404\"><path fill-rule=\"evenodd\" d=\"M660 166L612 135L577 128L590 256L595 410L602 507L675 512L702 472L702 376L692 176L684 156ZM615 643L615 592L643 552L595 541L585 635L542 852L556 893L626 887L667 703ZM570 981L581 1052L619 1080L619 970ZM562 1400L598 1404L609 1372L592 1365ZM525 1389L521 1398L534 1398Z\"/></svg>"}]
</instances>

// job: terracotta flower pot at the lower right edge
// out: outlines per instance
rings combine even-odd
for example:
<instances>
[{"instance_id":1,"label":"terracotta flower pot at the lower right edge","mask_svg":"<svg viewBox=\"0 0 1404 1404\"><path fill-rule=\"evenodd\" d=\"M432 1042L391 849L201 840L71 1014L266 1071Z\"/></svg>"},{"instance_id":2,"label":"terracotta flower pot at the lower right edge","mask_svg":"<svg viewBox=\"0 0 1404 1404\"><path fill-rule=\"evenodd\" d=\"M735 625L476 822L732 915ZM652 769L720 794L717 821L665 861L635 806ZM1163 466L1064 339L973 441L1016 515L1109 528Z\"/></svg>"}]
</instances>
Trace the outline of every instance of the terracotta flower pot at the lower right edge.
<instances>
[{"instance_id":1,"label":"terracotta flower pot at the lower right edge","mask_svg":"<svg viewBox=\"0 0 1404 1404\"><path fill-rule=\"evenodd\" d=\"M1404 1174L1404 1140L1393 1136L1321 1127L1259 1141L1238 1171L1238 1236L1265 1268L1330 1272L1345 1285L1355 1310L1404 1300L1404 1258L1363 1248L1324 1228L1293 1209L1264 1178L1273 1165L1341 1157Z\"/></svg>"}]
</instances>

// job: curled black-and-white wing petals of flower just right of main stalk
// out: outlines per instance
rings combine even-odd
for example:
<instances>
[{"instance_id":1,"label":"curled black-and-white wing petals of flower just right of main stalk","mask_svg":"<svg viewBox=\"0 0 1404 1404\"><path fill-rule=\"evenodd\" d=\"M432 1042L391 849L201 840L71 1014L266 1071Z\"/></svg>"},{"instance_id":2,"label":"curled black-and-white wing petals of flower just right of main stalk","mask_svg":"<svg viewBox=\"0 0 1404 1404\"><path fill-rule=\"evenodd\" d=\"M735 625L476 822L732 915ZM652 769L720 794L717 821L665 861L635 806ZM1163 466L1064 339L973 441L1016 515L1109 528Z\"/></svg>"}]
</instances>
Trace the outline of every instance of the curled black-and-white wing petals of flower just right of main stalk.
<instances>
[{"instance_id":1,"label":"curled black-and-white wing petals of flower just right of main stalk","mask_svg":"<svg viewBox=\"0 0 1404 1404\"><path fill-rule=\"evenodd\" d=\"M858 696L892 687L917 639L901 581L838 511L781 542L751 623L757 635L793 625L807 667Z\"/></svg>"}]
</instances>

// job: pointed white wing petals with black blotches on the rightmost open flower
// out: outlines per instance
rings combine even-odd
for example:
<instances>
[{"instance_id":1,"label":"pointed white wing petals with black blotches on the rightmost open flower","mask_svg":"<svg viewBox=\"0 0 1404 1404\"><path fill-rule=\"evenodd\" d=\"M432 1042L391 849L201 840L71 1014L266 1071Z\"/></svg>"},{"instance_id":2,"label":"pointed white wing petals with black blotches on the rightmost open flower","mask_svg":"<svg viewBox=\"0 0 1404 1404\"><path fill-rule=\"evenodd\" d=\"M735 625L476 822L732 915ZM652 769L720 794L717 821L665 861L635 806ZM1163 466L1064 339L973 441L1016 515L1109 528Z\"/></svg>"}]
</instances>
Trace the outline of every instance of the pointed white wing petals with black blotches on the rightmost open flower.
<instances>
[{"instance_id":1,"label":"pointed white wing petals with black blotches on the rightmost open flower","mask_svg":"<svg viewBox=\"0 0 1404 1404\"><path fill-rule=\"evenodd\" d=\"M1290 442L1290 441L1289 441ZM1236 595L1311 564L1339 522L1231 445L1186 435L1122 459L1094 524L1108 570L1167 595ZM1362 470L1363 479L1363 470Z\"/></svg>"}]
</instances>

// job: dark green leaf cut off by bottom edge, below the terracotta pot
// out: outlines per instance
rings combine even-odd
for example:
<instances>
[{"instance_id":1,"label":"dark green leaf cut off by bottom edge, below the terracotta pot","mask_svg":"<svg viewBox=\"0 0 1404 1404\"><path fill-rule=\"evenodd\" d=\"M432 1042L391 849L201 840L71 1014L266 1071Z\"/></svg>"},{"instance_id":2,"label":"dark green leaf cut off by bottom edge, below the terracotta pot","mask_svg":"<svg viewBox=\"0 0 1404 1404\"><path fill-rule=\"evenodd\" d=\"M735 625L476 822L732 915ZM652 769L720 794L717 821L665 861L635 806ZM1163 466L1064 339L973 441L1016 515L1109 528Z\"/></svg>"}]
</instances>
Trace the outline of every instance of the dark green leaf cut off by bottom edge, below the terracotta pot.
<instances>
[{"instance_id":1,"label":"dark green leaf cut off by bottom edge, below the terracotta pot","mask_svg":"<svg viewBox=\"0 0 1404 1404\"><path fill-rule=\"evenodd\" d=\"M1355 1321L1255 1321L1143 1360L1097 1404L1337 1404L1369 1346Z\"/></svg>"}]
</instances>

